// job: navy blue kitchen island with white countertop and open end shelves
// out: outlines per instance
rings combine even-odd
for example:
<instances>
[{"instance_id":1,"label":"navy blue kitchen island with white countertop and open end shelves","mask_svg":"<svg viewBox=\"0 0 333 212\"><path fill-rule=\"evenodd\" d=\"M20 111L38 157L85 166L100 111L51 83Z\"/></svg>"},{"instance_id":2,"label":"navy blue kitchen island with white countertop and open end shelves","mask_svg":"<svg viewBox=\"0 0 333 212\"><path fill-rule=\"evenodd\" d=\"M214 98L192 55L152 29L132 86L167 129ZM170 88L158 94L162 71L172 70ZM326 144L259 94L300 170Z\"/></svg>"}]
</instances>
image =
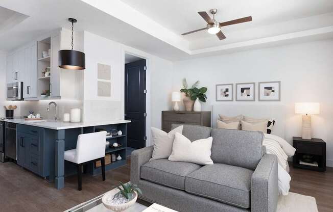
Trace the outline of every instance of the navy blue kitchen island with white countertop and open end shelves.
<instances>
[{"instance_id":1,"label":"navy blue kitchen island with white countertop and open end shelves","mask_svg":"<svg viewBox=\"0 0 333 212\"><path fill-rule=\"evenodd\" d=\"M94 133L100 130L121 130L122 135L107 137L111 145L117 142L121 146L109 147L105 153L121 155L122 160L106 165L105 169L110 170L126 165L127 123L130 121L112 120L80 123L30 122L24 119L5 121L17 125L17 164L54 183L57 189L64 187L65 176L76 173L76 167L65 162L64 152L76 148L77 138L80 134ZM101 167L96 166L96 163L91 163L85 167L85 172L96 175L101 173Z\"/></svg>"}]
</instances>

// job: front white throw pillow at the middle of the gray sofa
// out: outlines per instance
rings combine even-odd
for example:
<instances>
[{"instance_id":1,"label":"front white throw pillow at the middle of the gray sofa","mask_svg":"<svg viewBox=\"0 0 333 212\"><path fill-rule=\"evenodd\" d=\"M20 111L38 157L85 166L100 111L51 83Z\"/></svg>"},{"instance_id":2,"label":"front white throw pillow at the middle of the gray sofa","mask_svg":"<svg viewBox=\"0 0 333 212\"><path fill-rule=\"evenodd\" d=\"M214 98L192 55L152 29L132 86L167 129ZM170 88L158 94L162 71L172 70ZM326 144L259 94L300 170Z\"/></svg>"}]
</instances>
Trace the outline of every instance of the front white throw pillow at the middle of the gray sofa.
<instances>
[{"instance_id":1,"label":"front white throw pillow at the middle of the gray sofa","mask_svg":"<svg viewBox=\"0 0 333 212\"><path fill-rule=\"evenodd\" d=\"M189 162L200 165L211 165L211 144L213 138L199 139L191 142L185 136L176 133L169 161Z\"/></svg>"}]
</instances>

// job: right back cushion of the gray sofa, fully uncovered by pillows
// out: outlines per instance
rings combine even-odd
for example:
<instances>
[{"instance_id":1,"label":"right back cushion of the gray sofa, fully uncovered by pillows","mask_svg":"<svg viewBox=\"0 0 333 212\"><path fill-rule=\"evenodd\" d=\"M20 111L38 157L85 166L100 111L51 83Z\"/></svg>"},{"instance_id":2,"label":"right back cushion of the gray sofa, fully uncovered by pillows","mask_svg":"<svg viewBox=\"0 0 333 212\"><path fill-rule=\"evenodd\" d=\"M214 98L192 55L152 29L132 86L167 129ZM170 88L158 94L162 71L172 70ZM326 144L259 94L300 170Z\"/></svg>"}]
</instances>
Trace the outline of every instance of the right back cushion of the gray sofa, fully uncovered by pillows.
<instances>
[{"instance_id":1,"label":"right back cushion of the gray sofa, fully uncovered by pillows","mask_svg":"<svg viewBox=\"0 0 333 212\"><path fill-rule=\"evenodd\" d=\"M213 129L211 160L255 170L263 156L264 134L258 131Z\"/></svg>"}]
</instances>

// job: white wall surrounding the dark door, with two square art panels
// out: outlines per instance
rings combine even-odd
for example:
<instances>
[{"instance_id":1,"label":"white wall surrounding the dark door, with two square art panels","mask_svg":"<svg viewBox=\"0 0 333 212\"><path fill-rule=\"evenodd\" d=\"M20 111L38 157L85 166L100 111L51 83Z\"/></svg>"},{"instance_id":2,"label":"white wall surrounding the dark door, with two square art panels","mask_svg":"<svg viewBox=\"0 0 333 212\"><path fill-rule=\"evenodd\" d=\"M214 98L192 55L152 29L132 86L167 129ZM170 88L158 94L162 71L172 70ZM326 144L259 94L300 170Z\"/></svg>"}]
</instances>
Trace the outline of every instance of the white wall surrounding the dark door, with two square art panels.
<instances>
[{"instance_id":1,"label":"white wall surrounding the dark door, with two square art panels","mask_svg":"<svg viewBox=\"0 0 333 212\"><path fill-rule=\"evenodd\" d=\"M84 32L86 69L84 71L84 121L124 119L125 53L146 59L147 64L147 145L150 126L161 127L161 111L168 110L172 88L172 63L144 51ZM111 66L111 97L97 95L97 64Z\"/></svg>"}]
</instances>

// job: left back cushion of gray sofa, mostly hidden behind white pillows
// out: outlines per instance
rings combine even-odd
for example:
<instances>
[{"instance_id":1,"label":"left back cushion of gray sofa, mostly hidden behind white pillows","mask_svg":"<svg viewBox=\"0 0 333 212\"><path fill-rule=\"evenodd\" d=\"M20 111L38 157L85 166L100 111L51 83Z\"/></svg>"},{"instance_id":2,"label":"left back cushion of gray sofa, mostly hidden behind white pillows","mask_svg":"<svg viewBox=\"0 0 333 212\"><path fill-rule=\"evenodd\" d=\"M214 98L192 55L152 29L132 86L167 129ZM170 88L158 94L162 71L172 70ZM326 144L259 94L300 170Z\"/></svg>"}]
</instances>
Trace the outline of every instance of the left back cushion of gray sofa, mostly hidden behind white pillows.
<instances>
[{"instance_id":1,"label":"left back cushion of gray sofa, mostly hidden behind white pillows","mask_svg":"<svg viewBox=\"0 0 333 212\"><path fill-rule=\"evenodd\" d=\"M196 141L199 139L206 139L210 137L211 128L200 125L192 124L172 124L171 129L183 125L183 135L190 141Z\"/></svg>"}]
</instances>

